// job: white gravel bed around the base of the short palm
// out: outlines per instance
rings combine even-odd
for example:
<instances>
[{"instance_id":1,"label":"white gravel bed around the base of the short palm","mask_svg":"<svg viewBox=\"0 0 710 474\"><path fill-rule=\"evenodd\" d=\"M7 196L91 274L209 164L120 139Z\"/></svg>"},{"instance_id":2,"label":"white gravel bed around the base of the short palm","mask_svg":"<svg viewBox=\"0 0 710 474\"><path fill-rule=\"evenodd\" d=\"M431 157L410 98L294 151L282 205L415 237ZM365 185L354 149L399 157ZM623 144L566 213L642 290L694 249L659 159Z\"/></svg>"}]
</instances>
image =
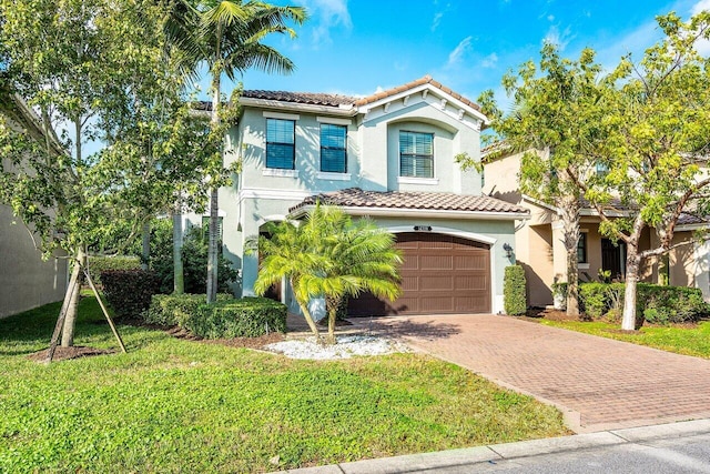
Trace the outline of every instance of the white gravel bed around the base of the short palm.
<instances>
[{"instance_id":1,"label":"white gravel bed around the base of the short palm","mask_svg":"<svg viewBox=\"0 0 710 474\"><path fill-rule=\"evenodd\" d=\"M349 359L356 355L383 355L394 352L408 352L408 347L400 342L372 335L336 336L334 345L321 345L315 337L294 339L290 341L267 344L263 349L283 354L291 359Z\"/></svg>"}]
</instances>

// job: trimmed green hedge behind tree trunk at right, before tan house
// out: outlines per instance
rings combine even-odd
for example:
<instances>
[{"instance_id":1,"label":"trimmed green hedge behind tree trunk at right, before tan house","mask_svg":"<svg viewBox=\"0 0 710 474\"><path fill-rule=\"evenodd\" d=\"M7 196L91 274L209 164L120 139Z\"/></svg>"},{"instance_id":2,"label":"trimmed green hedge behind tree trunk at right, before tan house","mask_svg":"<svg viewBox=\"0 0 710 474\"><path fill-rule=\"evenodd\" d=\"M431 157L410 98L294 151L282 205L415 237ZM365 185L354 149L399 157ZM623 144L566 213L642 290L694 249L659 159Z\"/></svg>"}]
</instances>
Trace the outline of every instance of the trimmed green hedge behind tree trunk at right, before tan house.
<instances>
[{"instance_id":1,"label":"trimmed green hedge behind tree trunk at right, before tan house","mask_svg":"<svg viewBox=\"0 0 710 474\"><path fill-rule=\"evenodd\" d=\"M623 283L582 283L579 285L582 310L594 319L618 319L623 307L625 290ZM638 283L637 321L683 323L700 320L709 310L700 289Z\"/></svg>"}]
</instances>

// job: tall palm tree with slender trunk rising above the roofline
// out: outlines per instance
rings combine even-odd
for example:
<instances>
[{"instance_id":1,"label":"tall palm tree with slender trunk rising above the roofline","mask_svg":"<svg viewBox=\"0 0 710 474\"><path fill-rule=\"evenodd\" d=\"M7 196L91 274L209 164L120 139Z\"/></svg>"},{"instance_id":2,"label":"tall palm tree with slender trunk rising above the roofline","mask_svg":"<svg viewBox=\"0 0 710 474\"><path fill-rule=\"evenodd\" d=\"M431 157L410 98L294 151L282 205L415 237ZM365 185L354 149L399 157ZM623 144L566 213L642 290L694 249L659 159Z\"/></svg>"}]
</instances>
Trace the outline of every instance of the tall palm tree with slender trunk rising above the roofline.
<instances>
[{"instance_id":1,"label":"tall palm tree with slender trunk rising above the roofline","mask_svg":"<svg viewBox=\"0 0 710 474\"><path fill-rule=\"evenodd\" d=\"M230 80L250 68L265 72L288 73L293 62L263 44L271 33L295 37L287 21L302 24L306 12L301 7L275 7L260 1L173 0L168 34L183 60L183 71L194 74L206 63L211 77L211 137L215 165L211 174L210 238L207 252L207 303L216 299L219 216L217 190L222 169L222 140L225 130L221 119L222 75ZM227 123L229 125L229 123Z\"/></svg>"}]
</instances>

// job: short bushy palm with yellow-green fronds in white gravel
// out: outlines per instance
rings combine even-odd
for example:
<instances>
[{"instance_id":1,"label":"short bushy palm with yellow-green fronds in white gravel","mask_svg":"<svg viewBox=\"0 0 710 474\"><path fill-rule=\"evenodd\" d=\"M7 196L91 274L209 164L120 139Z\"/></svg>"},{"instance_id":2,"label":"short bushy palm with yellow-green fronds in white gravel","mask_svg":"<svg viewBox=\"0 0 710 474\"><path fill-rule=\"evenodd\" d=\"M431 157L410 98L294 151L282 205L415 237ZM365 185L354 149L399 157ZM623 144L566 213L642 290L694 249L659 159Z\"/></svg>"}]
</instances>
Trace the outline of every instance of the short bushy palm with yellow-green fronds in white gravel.
<instances>
[{"instance_id":1,"label":"short bushy palm with yellow-green fronds in white gravel","mask_svg":"<svg viewBox=\"0 0 710 474\"><path fill-rule=\"evenodd\" d=\"M308 303L325 296L328 343L335 343L337 309L347 296L369 291L394 300L400 293L398 266L402 255L394 236L371 220L353 222L338 208L316 205L301 225L291 221L270 223L270 238L261 236L261 263L254 291L263 294L287 278L298 307L320 341ZM251 241L255 250L255 241Z\"/></svg>"}]
</instances>

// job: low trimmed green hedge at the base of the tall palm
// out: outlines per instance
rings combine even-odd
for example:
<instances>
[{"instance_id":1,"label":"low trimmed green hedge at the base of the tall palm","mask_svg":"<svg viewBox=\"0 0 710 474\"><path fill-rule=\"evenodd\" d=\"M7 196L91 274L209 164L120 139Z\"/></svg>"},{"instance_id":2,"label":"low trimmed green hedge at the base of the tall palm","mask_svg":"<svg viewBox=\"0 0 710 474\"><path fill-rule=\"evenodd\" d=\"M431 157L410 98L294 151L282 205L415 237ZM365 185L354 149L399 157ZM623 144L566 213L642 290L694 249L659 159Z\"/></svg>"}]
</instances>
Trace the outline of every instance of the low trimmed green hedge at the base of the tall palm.
<instances>
[{"instance_id":1,"label":"low trimmed green hedge at the base of the tall palm","mask_svg":"<svg viewBox=\"0 0 710 474\"><path fill-rule=\"evenodd\" d=\"M204 294L155 295L145 321L174 325L205 339L257 337L286 331L286 306L265 297L220 294L214 304Z\"/></svg>"}]
</instances>

